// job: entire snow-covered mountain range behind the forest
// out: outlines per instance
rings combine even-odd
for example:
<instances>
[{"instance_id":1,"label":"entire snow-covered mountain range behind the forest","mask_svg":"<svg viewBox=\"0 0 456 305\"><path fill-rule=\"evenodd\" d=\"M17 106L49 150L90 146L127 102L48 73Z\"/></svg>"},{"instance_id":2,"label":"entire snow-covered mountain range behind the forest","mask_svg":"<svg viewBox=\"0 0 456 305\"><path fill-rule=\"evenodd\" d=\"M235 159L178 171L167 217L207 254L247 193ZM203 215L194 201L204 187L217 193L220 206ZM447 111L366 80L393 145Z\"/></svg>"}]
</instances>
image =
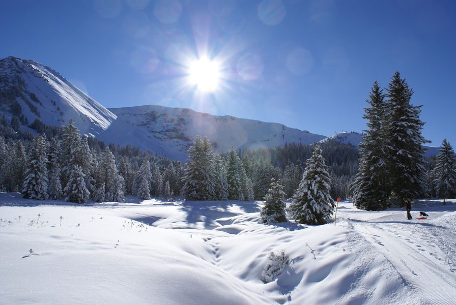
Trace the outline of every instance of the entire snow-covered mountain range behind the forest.
<instances>
[{"instance_id":1,"label":"entire snow-covered mountain range behind the forest","mask_svg":"<svg viewBox=\"0 0 456 305\"><path fill-rule=\"evenodd\" d=\"M187 108L148 105L108 110L53 69L12 56L0 59L0 113L8 119L20 117L22 129L35 119L63 126L73 118L81 133L181 161L187 158L187 148L196 135L208 136L216 151L227 151L232 145L255 149L287 142L338 141L358 147L362 140L362 134L355 132L327 138L282 124ZM426 156L439 153L438 147L426 148Z\"/></svg>"}]
</instances>

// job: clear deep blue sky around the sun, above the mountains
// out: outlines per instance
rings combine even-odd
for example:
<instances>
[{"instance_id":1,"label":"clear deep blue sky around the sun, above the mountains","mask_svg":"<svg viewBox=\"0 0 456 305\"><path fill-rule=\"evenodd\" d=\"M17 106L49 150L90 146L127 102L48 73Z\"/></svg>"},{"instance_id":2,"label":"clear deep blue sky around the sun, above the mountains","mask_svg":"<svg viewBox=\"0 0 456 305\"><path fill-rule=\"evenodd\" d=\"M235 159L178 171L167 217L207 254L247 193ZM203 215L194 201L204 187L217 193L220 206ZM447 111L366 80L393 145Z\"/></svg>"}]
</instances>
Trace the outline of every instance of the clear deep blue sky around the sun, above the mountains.
<instances>
[{"instance_id":1,"label":"clear deep blue sky around the sun, above the mountains","mask_svg":"<svg viewBox=\"0 0 456 305\"><path fill-rule=\"evenodd\" d=\"M456 2L424 0L3 0L0 57L34 59L105 107L158 104L361 131L370 86L397 70L424 136L456 146ZM189 58L218 60L201 93Z\"/></svg>"}]
</instances>

